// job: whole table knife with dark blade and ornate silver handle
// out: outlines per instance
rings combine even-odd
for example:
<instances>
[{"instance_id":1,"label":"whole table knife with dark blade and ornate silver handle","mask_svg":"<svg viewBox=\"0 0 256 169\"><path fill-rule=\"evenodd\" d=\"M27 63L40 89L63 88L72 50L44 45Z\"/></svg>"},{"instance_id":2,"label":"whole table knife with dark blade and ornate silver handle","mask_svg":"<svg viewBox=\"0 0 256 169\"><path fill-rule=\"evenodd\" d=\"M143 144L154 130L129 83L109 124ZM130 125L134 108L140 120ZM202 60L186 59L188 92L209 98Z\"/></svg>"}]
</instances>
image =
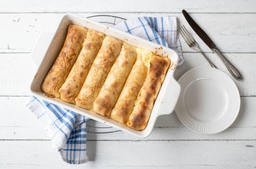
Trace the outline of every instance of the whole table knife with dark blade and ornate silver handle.
<instances>
[{"instance_id":1,"label":"whole table knife with dark blade and ornate silver handle","mask_svg":"<svg viewBox=\"0 0 256 169\"><path fill-rule=\"evenodd\" d=\"M212 51L220 57L222 62L225 64L226 68L228 68L228 71L236 78L237 80L242 80L241 73L226 59L226 57L220 52L220 50L217 48L216 44L212 42L211 38L207 36L207 34L195 23L195 21L191 18L189 13L183 9L183 15L189 25L192 27L192 29L195 31L195 33L205 42L205 44L212 49Z\"/></svg>"}]
</instances>

